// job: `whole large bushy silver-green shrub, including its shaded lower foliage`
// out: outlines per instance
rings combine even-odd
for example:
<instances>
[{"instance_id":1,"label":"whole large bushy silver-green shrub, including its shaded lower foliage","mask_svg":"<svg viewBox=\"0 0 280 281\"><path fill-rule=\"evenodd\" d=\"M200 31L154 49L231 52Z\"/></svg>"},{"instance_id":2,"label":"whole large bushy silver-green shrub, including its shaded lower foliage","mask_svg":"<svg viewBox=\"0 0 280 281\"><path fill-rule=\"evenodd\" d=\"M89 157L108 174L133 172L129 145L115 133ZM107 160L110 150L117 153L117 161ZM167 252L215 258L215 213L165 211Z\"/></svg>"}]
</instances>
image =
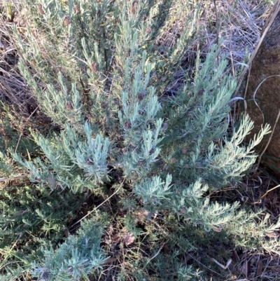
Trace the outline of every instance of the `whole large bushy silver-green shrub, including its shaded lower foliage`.
<instances>
[{"instance_id":1,"label":"whole large bushy silver-green shrub, including its shaded lower foliage","mask_svg":"<svg viewBox=\"0 0 280 281\"><path fill-rule=\"evenodd\" d=\"M126 233L120 247L146 245L145 254L125 251L130 270L120 268L118 280L207 278L207 269L184 263L183 255L202 255L209 243L279 252L276 238L264 237L280 222L269 226L262 210L211 200L212 192L241 180L255 162L253 147L269 132L265 126L244 146L253 127L248 116L230 127L237 83L224 75L221 42L207 56L197 53L192 73L172 88L199 31L200 5L182 7L184 25L171 44L165 41L171 0L25 0L25 6L25 36L14 29L18 67L58 129L30 128L33 151L10 146L14 163L1 146L3 172L12 165L29 179L1 193L3 280L102 278L113 225ZM88 198L91 210L80 216ZM80 220L75 233L71 226ZM211 262L207 254L201 259Z\"/></svg>"}]
</instances>

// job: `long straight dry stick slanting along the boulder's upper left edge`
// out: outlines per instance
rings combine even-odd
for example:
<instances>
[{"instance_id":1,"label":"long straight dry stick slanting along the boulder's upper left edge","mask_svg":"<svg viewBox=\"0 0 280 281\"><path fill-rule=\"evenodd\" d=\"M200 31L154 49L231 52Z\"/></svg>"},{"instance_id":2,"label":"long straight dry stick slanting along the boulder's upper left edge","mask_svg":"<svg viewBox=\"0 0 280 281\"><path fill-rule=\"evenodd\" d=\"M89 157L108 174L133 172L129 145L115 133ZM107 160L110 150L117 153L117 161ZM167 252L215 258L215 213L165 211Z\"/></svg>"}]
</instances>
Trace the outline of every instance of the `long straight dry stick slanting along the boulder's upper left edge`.
<instances>
[{"instance_id":1,"label":"long straight dry stick slanting along the boulder's upper left edge","mask_svg":"<svg viewBox=\"0 0 280 281\"><path fill-rule=\"evenodd\" d=\"M276 15L279 12L279 10L280 10L280 1L278 2L277 6L276 6L276 9L275 9L275 11L274 11L274 13L272 15L272 18L270 19L269 24L265 28L265 31L263 32L262 37L260 38L260 41L258 42L258 45L255 47L255 50L253 51L253 54L252 54L252 56L251 56L251 58L250 58L250 60L248 62L248 69L245 68L244 71L242 71L242 73L240 75L239 83L238 83L237 88L235 90L234 96L237 95L237 92L239 91L239 88L241 86L241 83L242 83L242 81L244 79L244 76L245 76L247 70L248 70L248 78L249 78L250 73L251 73L251 65L252 65L253 59L255 58L256 53L258 53L258 49L260 48L260 44L262 43L263 39L265 38L265 35L267 34L269 28L272 26L272 23L274 22L274 19L276 18ZM246 93L247 93L247 89L248 89L248 80L249 80L248 78L247 78L247 81L246 81L246 88L245 88L245 92L244 92L244 99L246 98Z\"/></svg>"}]
</instances>

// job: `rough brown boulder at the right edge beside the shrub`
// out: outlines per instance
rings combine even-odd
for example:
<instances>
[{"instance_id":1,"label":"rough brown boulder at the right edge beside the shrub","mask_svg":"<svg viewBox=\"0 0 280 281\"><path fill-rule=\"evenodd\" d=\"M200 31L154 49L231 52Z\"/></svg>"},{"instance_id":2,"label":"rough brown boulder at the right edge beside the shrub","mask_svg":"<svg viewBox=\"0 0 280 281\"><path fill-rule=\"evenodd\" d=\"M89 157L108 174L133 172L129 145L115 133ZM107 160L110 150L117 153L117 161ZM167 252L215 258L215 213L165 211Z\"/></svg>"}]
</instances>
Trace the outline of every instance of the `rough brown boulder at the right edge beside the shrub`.
<instances>
[{"instance_id":1,"label":"rough brown boulder at the right edge beside the shrub","mask_svg":"<svg viewBox=\"0 0 280 281\"><path fill-rule=\"evenodd\" d=\"M262 156L262 163L269 166L280 178L280 1L277 1L262 28L262 39L251 63L246 92L247 113L254 121L254 129L248 138L260 130L260 126L276 124L272 139ZM267 135L256 147L262 153L269 140Z\"/></svg>"}]
</instances>

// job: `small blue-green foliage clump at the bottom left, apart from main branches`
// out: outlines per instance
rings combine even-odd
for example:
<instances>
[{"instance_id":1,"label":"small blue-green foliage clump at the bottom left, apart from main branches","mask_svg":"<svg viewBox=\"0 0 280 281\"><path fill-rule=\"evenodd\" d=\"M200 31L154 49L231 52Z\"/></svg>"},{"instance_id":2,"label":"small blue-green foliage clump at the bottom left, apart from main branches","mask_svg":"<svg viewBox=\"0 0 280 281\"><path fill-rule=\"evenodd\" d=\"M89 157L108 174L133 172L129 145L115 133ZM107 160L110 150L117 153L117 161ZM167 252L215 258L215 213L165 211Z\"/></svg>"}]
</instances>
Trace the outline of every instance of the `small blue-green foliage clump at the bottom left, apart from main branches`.
<instances>
[{"instance_id":1,"label":"small blue-green foliage clump at the bottom left, apart from main branches","mask_svg":"<svg viewBox=\"0 0 280 281\"><path fill-rule=\"evenodd\" d=\"M40 263L32 263L31 275L49 281L80 280L87 279L88 273L102 269L106 258L99 244L104 224L93 217L83 221L77 235L70 235L56 251L45 247L43 267Z\"/></svg>"}]
</instances>

